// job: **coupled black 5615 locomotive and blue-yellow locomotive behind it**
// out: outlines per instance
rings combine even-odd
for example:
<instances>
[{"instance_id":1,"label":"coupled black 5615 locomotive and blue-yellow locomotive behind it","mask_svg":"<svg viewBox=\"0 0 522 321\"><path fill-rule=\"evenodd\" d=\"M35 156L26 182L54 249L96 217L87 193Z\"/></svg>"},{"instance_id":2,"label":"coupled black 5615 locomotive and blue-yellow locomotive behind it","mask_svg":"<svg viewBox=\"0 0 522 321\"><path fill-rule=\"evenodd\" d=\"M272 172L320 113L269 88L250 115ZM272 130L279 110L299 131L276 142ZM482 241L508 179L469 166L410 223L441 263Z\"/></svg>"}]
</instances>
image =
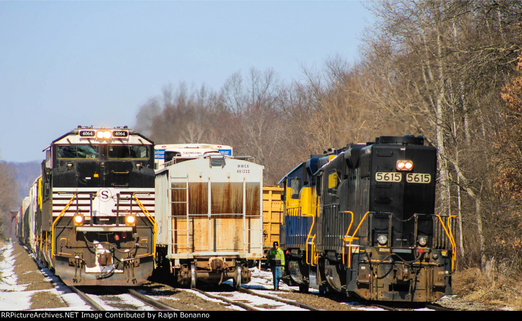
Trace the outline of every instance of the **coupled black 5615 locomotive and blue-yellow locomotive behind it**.
<instances>
[{"instance_id":1,"label":"coupled black 5615 locomotive and blue-yellow locomotive behind it","mask_svg":"<svg viewBox=\"0 0 522 321\"><path fill-rule=\"evenodd\" d=\"M366 300L451 294L454 216L435 213L436 149L381 136L314 154L280 181L287 277Z\"/></svg>"}]
</instances>

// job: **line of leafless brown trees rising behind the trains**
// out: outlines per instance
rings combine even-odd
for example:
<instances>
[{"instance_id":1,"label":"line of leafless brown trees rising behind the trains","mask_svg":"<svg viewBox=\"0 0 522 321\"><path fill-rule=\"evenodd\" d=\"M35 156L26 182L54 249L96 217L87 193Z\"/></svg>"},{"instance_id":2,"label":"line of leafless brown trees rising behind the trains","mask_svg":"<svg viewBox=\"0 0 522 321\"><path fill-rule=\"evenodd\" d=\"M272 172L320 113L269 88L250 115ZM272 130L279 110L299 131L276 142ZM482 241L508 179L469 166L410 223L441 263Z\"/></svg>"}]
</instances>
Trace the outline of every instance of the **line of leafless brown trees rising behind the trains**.
<instances>
[{"instance_id":1,"label":"line of leafless brown trees rising behind the trains","mask_svg":"<svg viewBox=\"0 0 522 321\"><path fill-rule=\"evenodd\" d=\"M367 9L375 22L357 63L330 57L303 66L301 81L252 68L217 91L167 86L141 106L137 129L156 144L231 145L265 166L265 184L329 147L423 135L438 150L436 212L456 216L458 266L520 271L522 3Z\"/></svg>"}]
</instances>

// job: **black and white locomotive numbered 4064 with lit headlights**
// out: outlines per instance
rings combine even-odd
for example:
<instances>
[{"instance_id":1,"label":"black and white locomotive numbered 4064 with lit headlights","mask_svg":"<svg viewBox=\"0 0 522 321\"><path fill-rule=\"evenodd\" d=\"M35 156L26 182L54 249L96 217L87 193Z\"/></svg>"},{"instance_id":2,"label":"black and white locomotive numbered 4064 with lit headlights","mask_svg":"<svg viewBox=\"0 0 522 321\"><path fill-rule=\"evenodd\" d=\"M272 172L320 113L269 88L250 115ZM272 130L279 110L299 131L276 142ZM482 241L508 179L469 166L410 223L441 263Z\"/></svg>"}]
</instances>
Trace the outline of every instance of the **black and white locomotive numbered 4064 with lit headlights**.
<instances>
[{"instance_id":1,"label":"black and white locomotive numbered 4064 with lit headlights","mask_svg":"<svg viewBox=\"0 0 522 321\"><path fill-rule=\"evenodd\" d=\"M19 238L67 285L139 286L152 274L153 146L126 126L78 126L45 150Z\"/></svg>"}]
</instances>

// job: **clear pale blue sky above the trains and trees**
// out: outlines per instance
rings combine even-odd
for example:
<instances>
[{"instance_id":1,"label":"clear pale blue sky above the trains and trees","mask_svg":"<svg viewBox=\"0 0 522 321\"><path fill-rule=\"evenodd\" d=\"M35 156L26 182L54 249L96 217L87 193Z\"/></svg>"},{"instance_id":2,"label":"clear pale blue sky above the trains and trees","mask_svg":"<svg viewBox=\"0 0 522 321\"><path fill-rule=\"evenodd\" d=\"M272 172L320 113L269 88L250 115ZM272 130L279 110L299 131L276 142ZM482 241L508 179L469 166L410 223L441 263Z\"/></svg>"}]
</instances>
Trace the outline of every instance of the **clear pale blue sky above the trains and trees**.
<instances>
[{"instance_id":1,"label":"clear pale blue sky above the trains and trees","mask_svg":"<svg viewBox=\"0 0 522 321\"><path fill-rule=\"evenodd\" d=\"M0 1L0 159L25 162L78 125L135 124L164 86L357 60L358 1Z\"/></svg>"}]
</instances>

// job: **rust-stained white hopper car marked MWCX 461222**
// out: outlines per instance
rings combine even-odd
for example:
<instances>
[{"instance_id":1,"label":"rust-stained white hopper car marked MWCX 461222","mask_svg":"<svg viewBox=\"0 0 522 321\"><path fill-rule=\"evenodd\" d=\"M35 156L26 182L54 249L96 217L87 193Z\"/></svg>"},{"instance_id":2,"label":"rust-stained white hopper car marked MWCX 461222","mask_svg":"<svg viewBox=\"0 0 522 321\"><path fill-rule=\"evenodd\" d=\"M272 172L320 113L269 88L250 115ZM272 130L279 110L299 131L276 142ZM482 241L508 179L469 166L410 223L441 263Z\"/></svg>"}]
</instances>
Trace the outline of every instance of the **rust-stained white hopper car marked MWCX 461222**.
<instances>
[{"instance_id":1,"label":"rust-stained white hopper car marked MWCX 461222","mask_svg":"<svg viewBox=\"0 0 522 321\"><path fill-rule=\"evenodd\" d=\"M158 265L182 286L250 281L263 255L262 165L219 153L156 171Z\"/></svg>"}]
</instances>

